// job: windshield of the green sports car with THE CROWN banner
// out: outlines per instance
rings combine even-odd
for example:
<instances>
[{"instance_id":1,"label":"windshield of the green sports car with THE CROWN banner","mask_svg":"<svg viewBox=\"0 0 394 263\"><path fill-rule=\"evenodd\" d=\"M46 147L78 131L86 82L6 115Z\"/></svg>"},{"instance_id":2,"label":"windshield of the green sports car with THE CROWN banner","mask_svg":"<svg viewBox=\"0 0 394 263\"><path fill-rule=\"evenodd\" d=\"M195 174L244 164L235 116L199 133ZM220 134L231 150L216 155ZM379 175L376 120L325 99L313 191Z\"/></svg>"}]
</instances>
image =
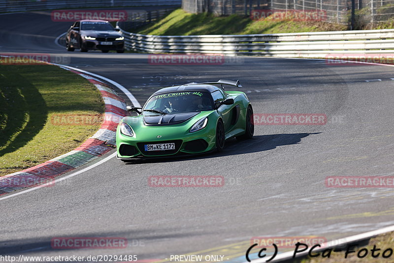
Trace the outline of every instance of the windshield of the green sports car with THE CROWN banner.
<instances>
[{"instance_id":1,"label":"windshield of the green sports car with THE CROWN banner","mask_svg":"<svg viewBox=\"0 0 394 263\"><path fill-rule=\"evenodd\" d=\"M144 114L155 112L179 113L214 109L211 94L208 92L171 92L153 96L144 107ZM153 111L154 110L154 111Z\"/></svg>"}]
</instances>

